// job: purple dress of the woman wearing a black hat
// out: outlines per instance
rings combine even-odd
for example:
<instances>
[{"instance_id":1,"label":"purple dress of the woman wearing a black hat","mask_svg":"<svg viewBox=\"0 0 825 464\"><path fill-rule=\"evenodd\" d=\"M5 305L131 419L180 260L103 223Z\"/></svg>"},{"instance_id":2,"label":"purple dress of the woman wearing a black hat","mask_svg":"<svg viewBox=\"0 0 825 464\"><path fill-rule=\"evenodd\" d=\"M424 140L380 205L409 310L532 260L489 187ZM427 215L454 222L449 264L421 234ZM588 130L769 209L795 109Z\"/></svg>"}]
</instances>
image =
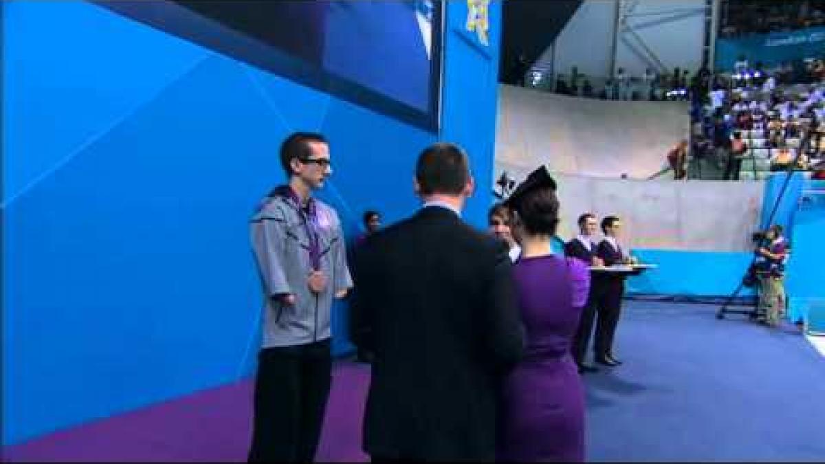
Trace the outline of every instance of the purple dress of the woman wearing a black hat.
<instances>
[{"instance_id":1,"label":"purple dress of the woman wearing a black hat","mask_svg":"<svg viewBox=\"0 0 825 464\"><path fill-rule=\"evenodd\" d=\"M498 458L583 462L584 391L570 344L590 272L549 255L521 258L513 273L527 348L502 388Z\"/></svg>"}]
</instances>

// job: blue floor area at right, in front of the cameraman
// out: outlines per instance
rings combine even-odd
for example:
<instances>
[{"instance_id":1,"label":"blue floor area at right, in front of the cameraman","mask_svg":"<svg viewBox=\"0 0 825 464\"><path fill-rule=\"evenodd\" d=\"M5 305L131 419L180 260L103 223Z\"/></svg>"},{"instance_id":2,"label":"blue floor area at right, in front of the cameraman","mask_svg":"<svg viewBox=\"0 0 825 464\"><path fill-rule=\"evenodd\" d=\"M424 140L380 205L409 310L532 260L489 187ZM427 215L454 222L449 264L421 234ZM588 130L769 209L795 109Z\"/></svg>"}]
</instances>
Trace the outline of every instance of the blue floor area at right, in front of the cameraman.
<instances>
[{"instance_id":1,"label":"blue floor area at right, in front of the cameraman","mask_svg":"<svg viewBox=\"0 0 825 464\"><path fill-rule=\"evenodd\" d=\"M585 376L588 461L825 461L825 357L716 310L625 301L625 364Z\"/></svg>"}]
</instances>

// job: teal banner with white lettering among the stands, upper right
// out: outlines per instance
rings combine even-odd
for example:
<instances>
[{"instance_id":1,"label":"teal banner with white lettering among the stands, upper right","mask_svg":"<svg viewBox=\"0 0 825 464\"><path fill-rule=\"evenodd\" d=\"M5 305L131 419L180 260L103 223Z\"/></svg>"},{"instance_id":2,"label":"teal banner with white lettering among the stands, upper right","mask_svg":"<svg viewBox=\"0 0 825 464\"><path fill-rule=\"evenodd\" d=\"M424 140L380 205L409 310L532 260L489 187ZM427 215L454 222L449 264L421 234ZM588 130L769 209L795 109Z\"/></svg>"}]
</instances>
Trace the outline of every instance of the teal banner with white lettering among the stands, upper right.
<instances>
[{"instance_id":1,"label":"teal banner with white lettering among the stands, upper right","mask_svg":"<svg viewBox=\"0 0 825 464\"><path fill-rule=\"evenodd\" d=\"M761 61L766 66L794 59L818 58L825 50L825 27L809 27L800 31L752 34L740 39L716 40L715 69L733 70L733 64L744 54L751 64Z\"/></svg>"}]
</instances>

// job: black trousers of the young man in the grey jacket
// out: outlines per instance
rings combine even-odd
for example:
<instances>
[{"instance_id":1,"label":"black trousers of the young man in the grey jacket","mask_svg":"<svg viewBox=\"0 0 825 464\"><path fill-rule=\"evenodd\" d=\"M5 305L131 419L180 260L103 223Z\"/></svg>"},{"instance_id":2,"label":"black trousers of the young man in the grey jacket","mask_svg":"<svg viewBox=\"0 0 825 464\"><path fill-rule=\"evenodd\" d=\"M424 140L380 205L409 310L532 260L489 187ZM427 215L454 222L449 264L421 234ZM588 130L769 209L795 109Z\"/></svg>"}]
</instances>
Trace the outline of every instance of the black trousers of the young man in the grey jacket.
<instances>
[{"instance_id":1,"label":"black trousers of the young man in the grey jacket","mask_svg":"<svg viewBox=\"0 0 825 464\"><path fill-rule=\"evenodd\" d=\"M262 349L248 462L313 462L331 384L329 339Z\"/></svg>"}]
</instances>

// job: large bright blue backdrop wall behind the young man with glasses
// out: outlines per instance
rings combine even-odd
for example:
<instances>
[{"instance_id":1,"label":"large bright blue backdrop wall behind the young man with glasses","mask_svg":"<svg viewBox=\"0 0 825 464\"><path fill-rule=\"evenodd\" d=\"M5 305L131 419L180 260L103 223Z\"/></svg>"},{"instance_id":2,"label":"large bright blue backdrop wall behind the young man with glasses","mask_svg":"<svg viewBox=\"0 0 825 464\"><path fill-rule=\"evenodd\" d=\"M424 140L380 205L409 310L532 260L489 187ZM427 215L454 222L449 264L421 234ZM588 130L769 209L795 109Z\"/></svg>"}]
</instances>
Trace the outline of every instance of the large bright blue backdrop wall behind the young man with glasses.
<instances>
[{"instance_id":1,"label":"large bright blue backdrop wall behind the young man with glasses","mask_svg":"<svg viewBox=\"0 0 825 464\"><path fill-rule=\"evenodd\" d=\"M4 3L3 443L251 372L247 219L283 181L290 131L328 135L321 196L347 233L368 207L388 221L417 207L414 159L436 135L89 3ZM492 184L500 12L485 48L461 31L466 3L447 3L440 138L468 149L479 186ZM479 188L467 219L484 225L491 201Z\"/></svg>"}]
</instances>

